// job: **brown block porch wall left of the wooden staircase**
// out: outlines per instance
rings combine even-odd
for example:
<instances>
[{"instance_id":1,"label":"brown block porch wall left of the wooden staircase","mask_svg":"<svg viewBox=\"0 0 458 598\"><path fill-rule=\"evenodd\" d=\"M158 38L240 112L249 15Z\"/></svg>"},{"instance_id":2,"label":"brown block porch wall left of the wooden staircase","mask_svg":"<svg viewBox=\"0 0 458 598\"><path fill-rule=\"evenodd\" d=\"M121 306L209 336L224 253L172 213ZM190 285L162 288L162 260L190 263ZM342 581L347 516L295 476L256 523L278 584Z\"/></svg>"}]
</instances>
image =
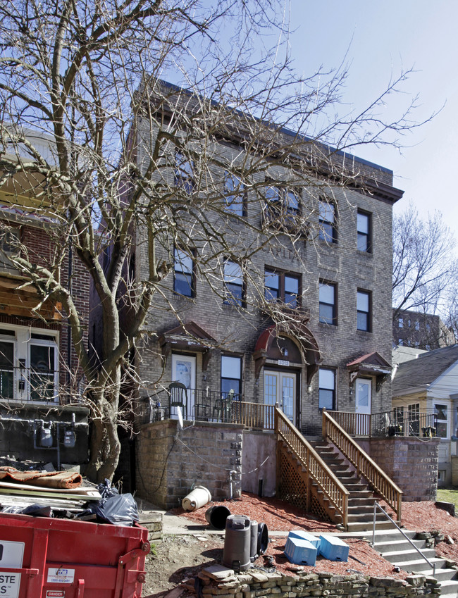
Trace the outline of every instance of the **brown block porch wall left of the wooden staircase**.
<instances>
[{"instance_id":1,"label":"brown block porch wall left of the wooden staircase","mask_svg":"<svg viewBox=\"0 0 458 598\"><path fill-rule=\"evenodd\" d=\"M180 506L193 485L215 501L240 497L242 428L199 422L178 432L178 422L142 426L137 435L137 494L163 509ZM232 475L230 472L233 472Z\"/></svg>"}]
</instances>

